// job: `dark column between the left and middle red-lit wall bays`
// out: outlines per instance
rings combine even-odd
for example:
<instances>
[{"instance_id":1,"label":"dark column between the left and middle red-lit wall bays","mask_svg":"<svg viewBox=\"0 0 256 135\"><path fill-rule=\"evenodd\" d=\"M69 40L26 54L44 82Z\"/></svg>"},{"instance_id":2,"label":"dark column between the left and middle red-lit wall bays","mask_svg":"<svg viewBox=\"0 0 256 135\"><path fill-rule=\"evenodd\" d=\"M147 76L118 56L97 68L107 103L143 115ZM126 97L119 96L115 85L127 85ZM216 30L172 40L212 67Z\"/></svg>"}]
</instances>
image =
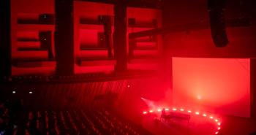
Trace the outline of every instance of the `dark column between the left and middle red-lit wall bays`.
<instances>
[{"instance_id":1,"label":"dark column between the left and middle red-lit wall bays","mask_svg":"<svg viewBox=\"0 0 256 135\"><path fill-rule=\"evenodd\" d=\"M56 75L74 74L73 0L55 0Z\"/></svg>"}]
</instances>

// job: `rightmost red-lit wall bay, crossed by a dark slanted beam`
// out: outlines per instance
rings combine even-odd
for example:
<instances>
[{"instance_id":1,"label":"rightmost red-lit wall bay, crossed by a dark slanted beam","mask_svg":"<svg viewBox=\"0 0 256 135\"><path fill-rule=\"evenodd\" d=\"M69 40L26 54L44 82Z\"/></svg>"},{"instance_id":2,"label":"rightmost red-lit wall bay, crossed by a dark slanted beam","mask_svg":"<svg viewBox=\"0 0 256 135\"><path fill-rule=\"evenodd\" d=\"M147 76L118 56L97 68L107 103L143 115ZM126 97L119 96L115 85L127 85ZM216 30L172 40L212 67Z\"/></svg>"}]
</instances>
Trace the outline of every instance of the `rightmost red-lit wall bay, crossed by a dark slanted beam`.
<instances>
[{"instance_id":1,"label":"rightmost red-lit wall bay, crossed by a dark slanted beam","mask_svg":"<svg viewBox=\"0 0 256 135\"><path fill-rule=\"evenodd\" d=\"M162 11L160 9L128 7L127 17L135 19L134 25L128 23L128 34L162 27ZM157 70L161 53L162 36L157 35L153 39L150 36L137 38L135 39L133 57L128 61L128 69Z\"/></svg>"}]
</instances>

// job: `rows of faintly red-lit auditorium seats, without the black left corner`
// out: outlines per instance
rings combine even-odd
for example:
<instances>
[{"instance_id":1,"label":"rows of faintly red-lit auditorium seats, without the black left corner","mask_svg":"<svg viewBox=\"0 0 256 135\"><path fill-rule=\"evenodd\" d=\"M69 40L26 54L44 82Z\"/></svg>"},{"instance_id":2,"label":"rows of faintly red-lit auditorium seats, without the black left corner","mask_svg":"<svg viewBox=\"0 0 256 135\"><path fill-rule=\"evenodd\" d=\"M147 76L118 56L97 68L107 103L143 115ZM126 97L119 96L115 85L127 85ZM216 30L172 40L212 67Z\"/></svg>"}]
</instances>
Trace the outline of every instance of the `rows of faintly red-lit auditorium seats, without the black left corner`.
<instances>
[{"instance_id":1,"label":"rows of faintly red-lit auditorium seats, without the black left corner","mask_svg":"<svg viewBox=\"0 0 256 135\"><path fill-rule=\"evenodd\" d=\"M151 134L105 109L29 111L26 135L146 135ZM17 134L14 131L13 134Z\"/></svg>"}]
</instances>

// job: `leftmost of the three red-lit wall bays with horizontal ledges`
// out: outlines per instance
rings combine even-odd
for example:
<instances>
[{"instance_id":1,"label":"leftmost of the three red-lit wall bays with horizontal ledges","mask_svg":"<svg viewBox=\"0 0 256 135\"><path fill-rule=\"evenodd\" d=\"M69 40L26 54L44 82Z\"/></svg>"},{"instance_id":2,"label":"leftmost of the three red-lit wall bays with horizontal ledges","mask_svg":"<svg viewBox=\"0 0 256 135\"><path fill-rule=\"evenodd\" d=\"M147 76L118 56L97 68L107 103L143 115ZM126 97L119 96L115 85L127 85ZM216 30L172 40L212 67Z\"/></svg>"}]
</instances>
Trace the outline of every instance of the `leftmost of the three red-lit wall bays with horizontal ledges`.
<instances>
[{"instance_id":1,"label":"leftmost of the three red-lit wall bays with horizontal ledges","mask_svg":"<svg viewBox=\"0 0 256 135\"><path fill-rule=\"evenodd\" d=\"M50 32L51 37L46 40L51 42L54 55L55 26L39 23L39 15L43 14L54 14L54 1L11 1L12 75L54 74L56 61L54 58L50 60L49 51L40 47L39 33Z\"/></svg>"}]
</instances>

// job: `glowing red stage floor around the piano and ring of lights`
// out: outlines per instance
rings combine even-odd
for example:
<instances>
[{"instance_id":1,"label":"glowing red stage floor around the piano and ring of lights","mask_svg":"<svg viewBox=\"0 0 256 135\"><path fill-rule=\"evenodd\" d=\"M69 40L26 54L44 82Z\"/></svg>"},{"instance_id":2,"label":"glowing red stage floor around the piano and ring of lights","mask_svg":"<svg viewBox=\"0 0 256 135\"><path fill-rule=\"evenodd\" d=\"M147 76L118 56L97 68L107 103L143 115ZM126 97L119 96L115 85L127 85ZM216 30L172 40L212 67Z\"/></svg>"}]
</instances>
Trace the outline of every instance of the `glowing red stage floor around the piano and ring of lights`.
<instances>
[{"instance_id":1,"label":"glowing red stage floor around the piano and ring of lights","mask_svg":"<svg viewBox=\"0 0 256 135\"><path fill-rule=\"evenodd\" d=\"M143 117L143 127L156 135L214 135L215 125L200 117L187 120L161 120L159 116ZM245 117L222 116L221 135L249 135L256 131L256 120Z\"/></svg>"}]
</instances>

